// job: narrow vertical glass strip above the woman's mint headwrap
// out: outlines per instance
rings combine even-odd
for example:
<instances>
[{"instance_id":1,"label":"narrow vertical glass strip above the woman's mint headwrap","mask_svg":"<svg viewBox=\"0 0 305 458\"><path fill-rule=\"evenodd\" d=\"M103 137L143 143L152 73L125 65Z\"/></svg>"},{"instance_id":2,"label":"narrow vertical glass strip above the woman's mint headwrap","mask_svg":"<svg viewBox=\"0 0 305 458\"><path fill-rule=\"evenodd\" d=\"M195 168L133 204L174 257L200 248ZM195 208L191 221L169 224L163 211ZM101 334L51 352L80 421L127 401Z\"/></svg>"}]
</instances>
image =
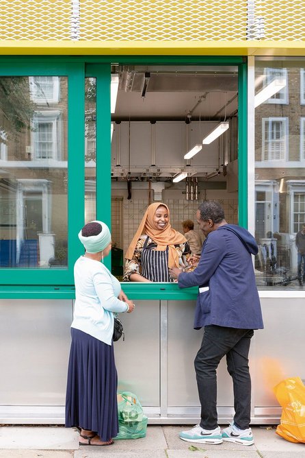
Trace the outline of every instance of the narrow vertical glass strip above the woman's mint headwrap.
<instances>
[{"instance_id":1,"label":"narrow vertical glass strip above the woman's mint headwrap","mask_svg":"<svg viewBox=\"0 0 305 458\"><path fill-rule=\"evenodd\" d=\"M85 78L85 223L96 219L96 78Z\"/></svg>"}]
</instances>

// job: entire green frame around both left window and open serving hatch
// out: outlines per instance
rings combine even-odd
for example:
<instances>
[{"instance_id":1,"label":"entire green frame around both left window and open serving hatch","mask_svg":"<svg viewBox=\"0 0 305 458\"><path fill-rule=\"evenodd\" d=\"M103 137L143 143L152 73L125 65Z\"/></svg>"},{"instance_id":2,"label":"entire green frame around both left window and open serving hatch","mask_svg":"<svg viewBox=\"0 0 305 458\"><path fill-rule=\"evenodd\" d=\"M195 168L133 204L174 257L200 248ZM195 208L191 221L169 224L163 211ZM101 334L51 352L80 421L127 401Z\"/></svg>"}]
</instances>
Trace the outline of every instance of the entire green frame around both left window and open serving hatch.
<instances>
[{"instance_id":1,"label":"entire green frame around both left window and open serving hatch","mask_svg":"<svg viewBox=\"0 0 305 458\"><path fill-rule=\"evenodd\" d=\"M228 65L238 67L239 90L239 224L248 225L247 61L231 56L49 56L7 57L1 76L55 75L68 77L68 269L1 269L0 298L74 298L73 265L83 248L77 232L84 224L85 77L96 77L96 219L111 224L111 63L144 65ZM72 114L72 115L71 115ZM105 142L109 138L109 142ZM108 202L108 203L107 203ZM110 267L110 259L106 265ZM35 274L35 276L33 276ZM35 280L33 281L33 278ZM198 289L179 290L175 283L122 283L137 299L194 300Z\"/></svg>"}]
</instances>

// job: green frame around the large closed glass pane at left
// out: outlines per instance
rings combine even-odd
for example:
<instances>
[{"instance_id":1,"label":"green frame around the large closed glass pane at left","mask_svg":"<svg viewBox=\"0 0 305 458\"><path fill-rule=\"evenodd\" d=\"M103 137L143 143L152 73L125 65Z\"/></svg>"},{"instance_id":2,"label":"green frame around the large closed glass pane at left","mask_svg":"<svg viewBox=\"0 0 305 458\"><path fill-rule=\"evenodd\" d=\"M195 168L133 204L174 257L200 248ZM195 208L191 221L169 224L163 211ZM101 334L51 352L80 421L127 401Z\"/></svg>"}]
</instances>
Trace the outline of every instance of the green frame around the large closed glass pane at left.
<instances>
[{"instance_id":1,"label":"green frame around the large closed glass pane at left","mask_svg":"<svg viewBox=\"0 0 305 458\"><path fill-rule=\"evenodd\" d=\"M1 77L64 76L68 77L68 268L67 269L1 269L2 285L73 285L73 264L79 253L77 228L84 220L84 65L82 62L20 60L0 62ZM73 113L72 116L69 113Z\"/></svg>"}]
</instances>

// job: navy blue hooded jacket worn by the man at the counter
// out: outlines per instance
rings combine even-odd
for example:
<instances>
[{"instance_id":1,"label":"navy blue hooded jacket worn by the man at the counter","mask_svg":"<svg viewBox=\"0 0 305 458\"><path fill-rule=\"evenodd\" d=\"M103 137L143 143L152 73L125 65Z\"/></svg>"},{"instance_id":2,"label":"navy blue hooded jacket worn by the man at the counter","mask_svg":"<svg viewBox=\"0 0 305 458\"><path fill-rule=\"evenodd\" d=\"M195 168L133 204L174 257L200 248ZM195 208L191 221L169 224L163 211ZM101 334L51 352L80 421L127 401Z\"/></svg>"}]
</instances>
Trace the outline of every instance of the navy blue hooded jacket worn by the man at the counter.
<instances>
[{"instance_id":1,"label":"navy blue hooded jacket worn by the man at the counter","mask_svg":"<svg viewBox=\"0 0 305 458\"><path fill-rule=\"evenodd\" d=\"M251 256L257 252L254 237L235 224L220 226L209 233L194 272L182 273L178 278L180 288L209 287L198 293L195 329L209 324L263 328Z\"/></svg>"}]
</instances>

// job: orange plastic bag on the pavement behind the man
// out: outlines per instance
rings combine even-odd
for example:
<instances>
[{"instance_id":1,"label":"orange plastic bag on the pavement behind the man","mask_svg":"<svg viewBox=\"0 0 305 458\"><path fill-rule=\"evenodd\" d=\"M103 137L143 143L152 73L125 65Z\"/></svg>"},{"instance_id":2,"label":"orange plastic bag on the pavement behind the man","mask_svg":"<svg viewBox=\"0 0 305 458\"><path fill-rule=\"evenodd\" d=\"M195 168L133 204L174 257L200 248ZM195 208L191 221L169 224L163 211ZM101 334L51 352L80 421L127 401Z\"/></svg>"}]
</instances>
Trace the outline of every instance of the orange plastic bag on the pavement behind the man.
<instances>
[{"instance_id":1,"label":"orange plastic bag on the pavement behind the man","mask_svg":"<svg viewBox=\"0 0 305 458\"><path fill-rule=\"evenodd\" d=\"M300 377L286 378L274 387L282 406L276 433L289 442L305 443L305 386Z\"/></svg>"}]
</instances>

